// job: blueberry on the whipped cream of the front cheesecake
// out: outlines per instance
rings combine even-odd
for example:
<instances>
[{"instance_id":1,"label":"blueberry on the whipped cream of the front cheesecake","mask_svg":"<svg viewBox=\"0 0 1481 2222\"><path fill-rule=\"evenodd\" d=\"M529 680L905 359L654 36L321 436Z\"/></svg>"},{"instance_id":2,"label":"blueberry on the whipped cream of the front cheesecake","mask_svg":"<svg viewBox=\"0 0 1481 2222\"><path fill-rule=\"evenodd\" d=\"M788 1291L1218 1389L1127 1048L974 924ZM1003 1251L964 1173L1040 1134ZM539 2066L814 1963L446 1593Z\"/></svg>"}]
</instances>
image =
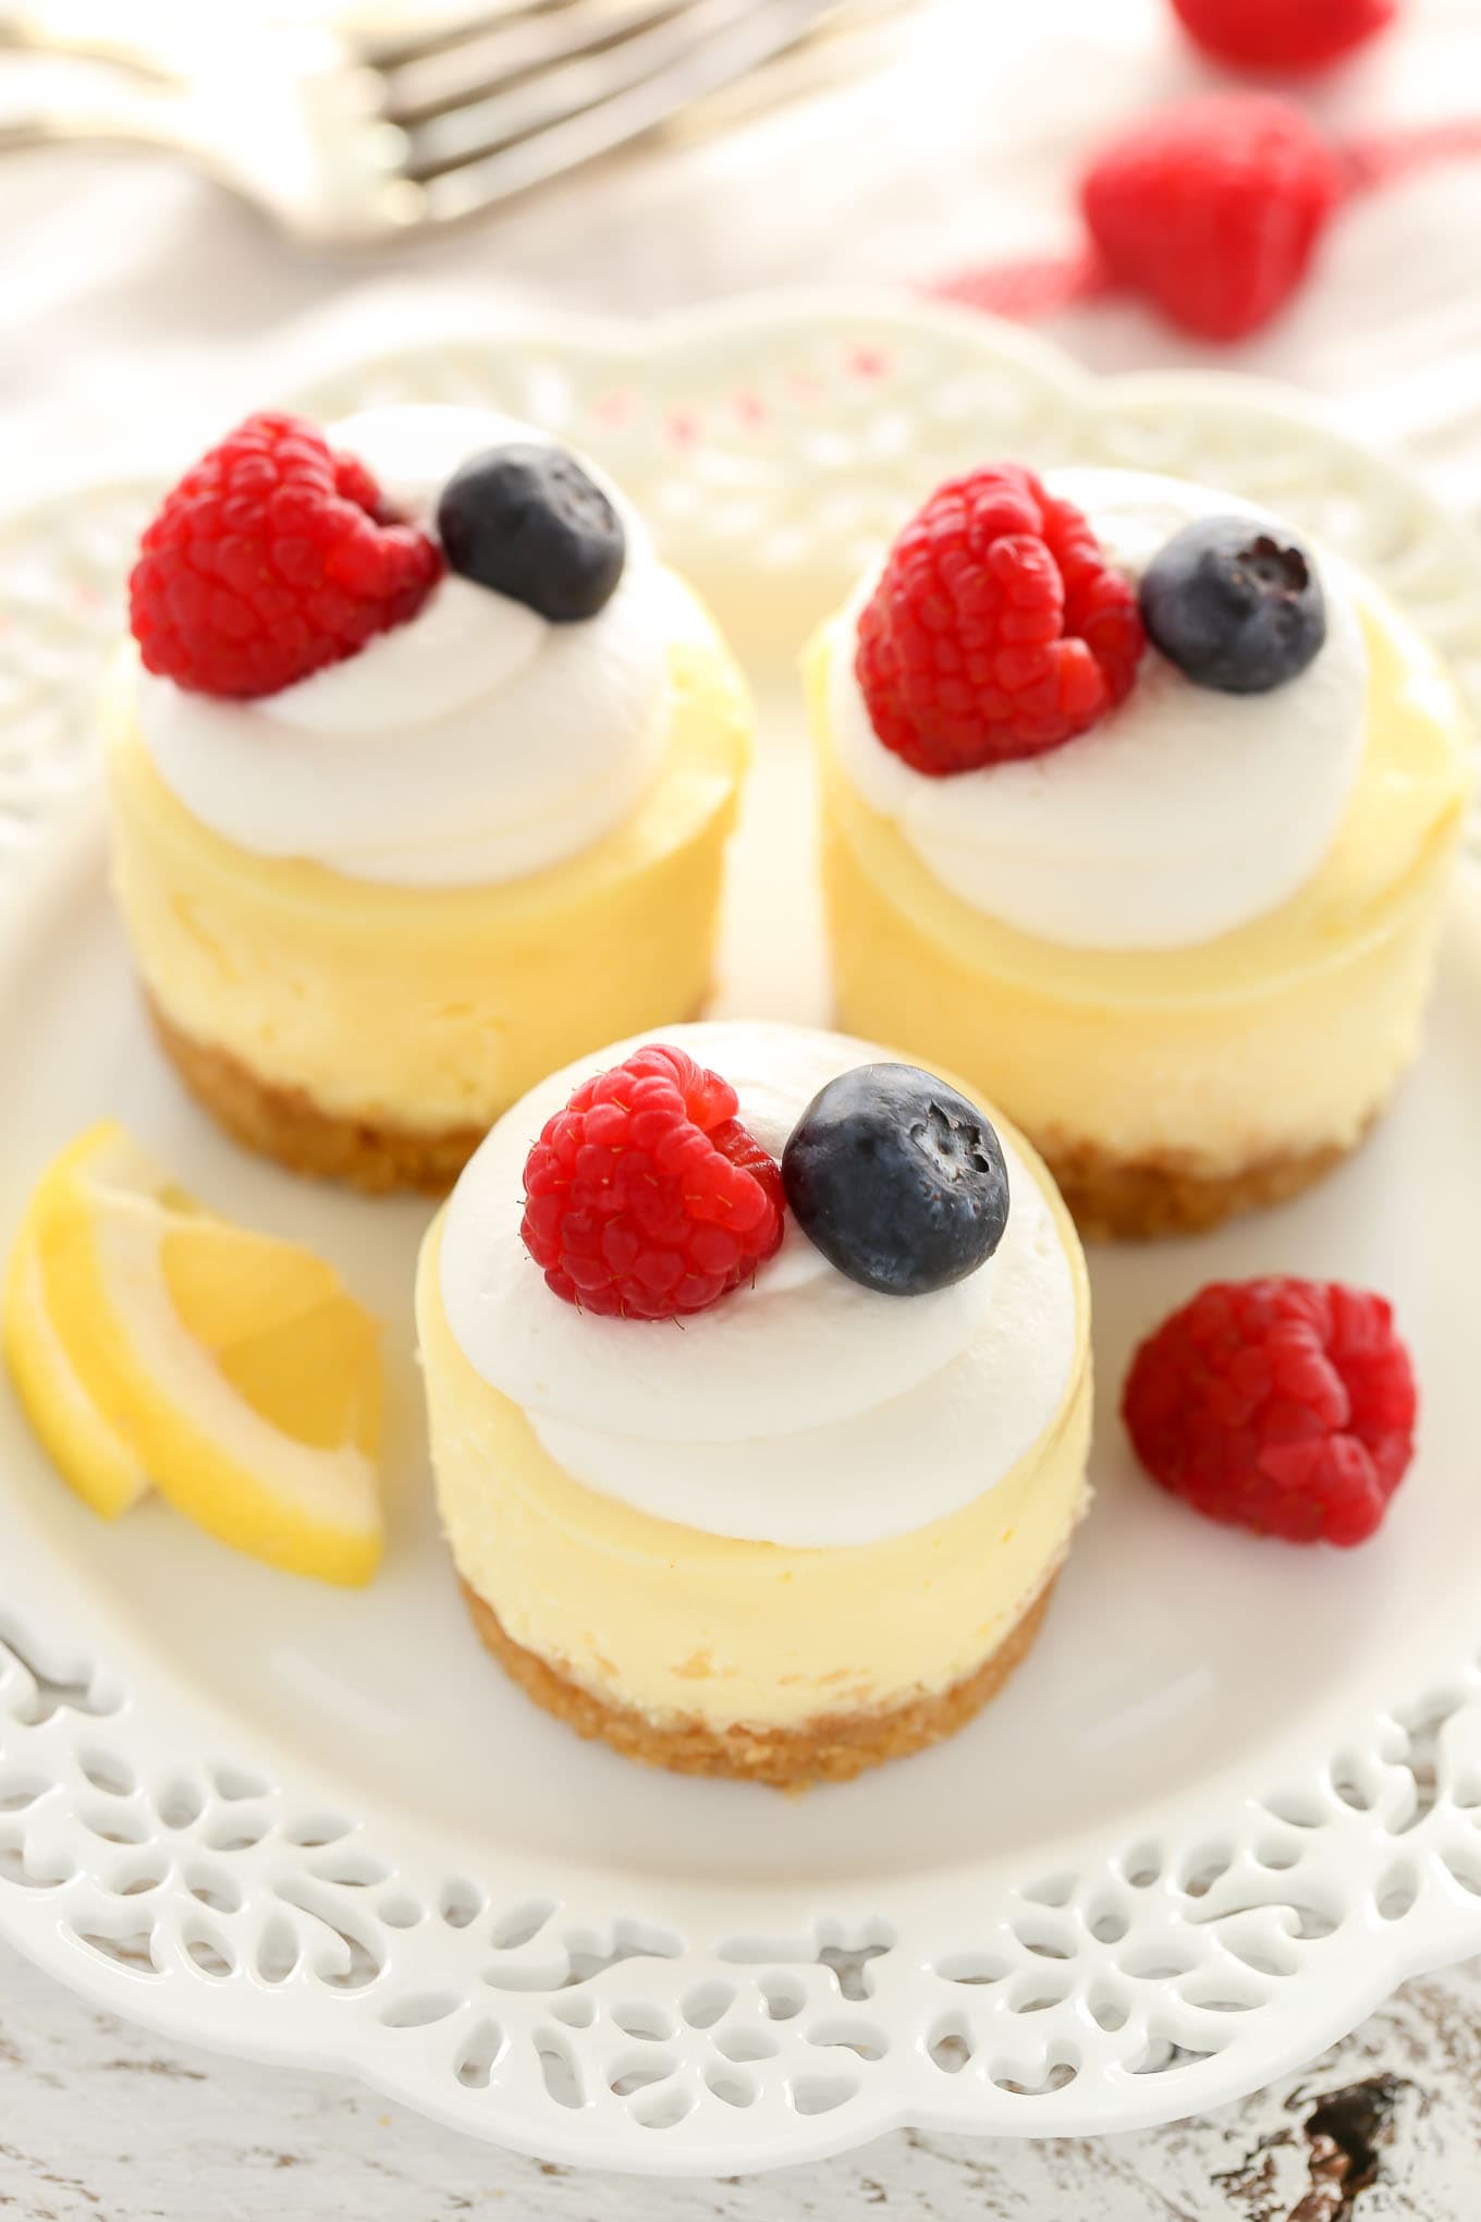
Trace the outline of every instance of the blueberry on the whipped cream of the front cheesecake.
<instances>
[{"instance_id":1,"label":"blueberry on the whipped cream of the front cheesecake","mask_svg":"<svg viewBox=\"0 0 1481 2222\"><path fill-rule=\"evenodd\" d=\"M993 1127L915 1064L859 1064L819 1089L782 1153L782 1187L808 1242L881 1295L948 1289L1008 1224Z\"/></svg>"}]
</instances>

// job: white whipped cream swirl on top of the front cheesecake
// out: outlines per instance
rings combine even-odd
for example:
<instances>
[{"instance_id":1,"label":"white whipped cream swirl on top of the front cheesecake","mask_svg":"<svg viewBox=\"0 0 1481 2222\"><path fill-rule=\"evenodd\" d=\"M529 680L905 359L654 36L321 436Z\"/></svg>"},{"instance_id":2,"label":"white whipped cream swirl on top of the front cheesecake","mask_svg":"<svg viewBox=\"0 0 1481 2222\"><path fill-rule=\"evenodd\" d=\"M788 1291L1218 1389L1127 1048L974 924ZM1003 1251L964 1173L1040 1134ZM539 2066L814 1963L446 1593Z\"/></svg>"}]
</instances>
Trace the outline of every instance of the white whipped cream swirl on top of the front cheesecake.
<instances>
[{"instance_id":1,"label":"white whipped cream swirl on top of the front cheesecake","mask_svg":"<svg viewBox=\"0 0 1481 2222\"><path fill-rule=\"evenodd\" d=\"M886 1055L779 1024L668 1027L657 1040L724 1073L775 1158L828 1080ZM524 1407L566 1473L713 1535L877 1542L999 1482L1057 1418L1079 1349L1064 1240L1008 1142L1008 1229L950 1289L862 1289L788 1213L755 1280L682 1327L595 1318L551 1295L520 1240L524 1160L573 1089L635 1047L533 1089L453 1191L442 1302L475 1373Z\"/></svg>"}]
</instances>

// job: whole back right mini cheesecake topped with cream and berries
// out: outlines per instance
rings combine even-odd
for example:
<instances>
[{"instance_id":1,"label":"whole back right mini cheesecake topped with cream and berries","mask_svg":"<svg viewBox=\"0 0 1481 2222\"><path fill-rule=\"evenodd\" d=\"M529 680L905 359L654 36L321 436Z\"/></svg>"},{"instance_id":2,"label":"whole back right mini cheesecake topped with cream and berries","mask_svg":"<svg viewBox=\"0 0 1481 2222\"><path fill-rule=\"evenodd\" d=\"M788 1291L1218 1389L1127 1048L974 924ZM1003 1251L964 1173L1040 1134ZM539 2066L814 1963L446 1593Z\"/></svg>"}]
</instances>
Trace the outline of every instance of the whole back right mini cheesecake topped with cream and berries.
<instances>
[{"instance_id":1,"label":"whole back right mini cheesecake topped with cream and berries","mask_svg":"<svg viewBox=\"0 0 1481 2222\"><path fill-rule=\"evenodd\" d=\"M1004 478L941 489L810 651L837 1018L1001 1102L1081 1231L1212 1227L1410 1064L1468 724L1401 613L1248 504ZM1048 664L1086 649L1099 691Z\"/></svg>"}]
</instances>

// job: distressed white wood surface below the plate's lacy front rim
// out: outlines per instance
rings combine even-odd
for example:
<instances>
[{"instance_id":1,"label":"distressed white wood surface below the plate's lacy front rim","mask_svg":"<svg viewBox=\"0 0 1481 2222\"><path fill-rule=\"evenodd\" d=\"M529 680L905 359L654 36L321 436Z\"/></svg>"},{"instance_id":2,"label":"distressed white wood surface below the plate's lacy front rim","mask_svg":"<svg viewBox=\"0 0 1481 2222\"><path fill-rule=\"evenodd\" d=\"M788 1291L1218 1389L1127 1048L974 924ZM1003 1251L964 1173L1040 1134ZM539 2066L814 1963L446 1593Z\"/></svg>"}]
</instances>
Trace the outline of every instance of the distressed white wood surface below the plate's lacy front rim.
<instances>
[{"instance_id":1,"label":"distressed white wood surface below the plate's lacy front rim","mask_svg":"<svg viewBox=\"0 0 1481 2222\"><path fill-rule=\"evenodd\" d=\"M1046 2144L899 2133L666 2184L517 2160L337 2075L164 2044L0 1949L0 2215L18 2222L1474 2222L1477 2153L1481 1960L1201 2122Z\"/></svg>"}]
</instances>

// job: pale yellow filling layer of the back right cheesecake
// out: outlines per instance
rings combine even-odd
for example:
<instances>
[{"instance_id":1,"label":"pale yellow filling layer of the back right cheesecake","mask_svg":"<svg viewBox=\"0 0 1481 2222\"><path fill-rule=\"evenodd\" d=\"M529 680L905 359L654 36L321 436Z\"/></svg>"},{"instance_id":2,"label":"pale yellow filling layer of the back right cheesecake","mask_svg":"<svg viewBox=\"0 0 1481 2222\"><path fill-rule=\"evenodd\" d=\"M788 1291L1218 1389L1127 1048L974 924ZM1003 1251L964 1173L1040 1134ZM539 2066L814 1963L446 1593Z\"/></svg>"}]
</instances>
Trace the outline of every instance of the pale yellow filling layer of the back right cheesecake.
<instances>
[{"instance_id":1,"label":"pale yellow filling layer of the back right cheesecake","mask_svg":"<svg viewBox=\"0 0 1481 2222\"><path fill-rule=\"evenodd\" d=\"M1263 918L1157 951L1039 940L941 887L842 771L828 669L853 640L824 629L808 691L839 1027L966 1073L1050 1155L1223 1173L1357 1140L1417 1047L1472 784L1437 655L1372 587L1359 613L1363 760L1321 869Z\"/></svg>"}]
</instances>

